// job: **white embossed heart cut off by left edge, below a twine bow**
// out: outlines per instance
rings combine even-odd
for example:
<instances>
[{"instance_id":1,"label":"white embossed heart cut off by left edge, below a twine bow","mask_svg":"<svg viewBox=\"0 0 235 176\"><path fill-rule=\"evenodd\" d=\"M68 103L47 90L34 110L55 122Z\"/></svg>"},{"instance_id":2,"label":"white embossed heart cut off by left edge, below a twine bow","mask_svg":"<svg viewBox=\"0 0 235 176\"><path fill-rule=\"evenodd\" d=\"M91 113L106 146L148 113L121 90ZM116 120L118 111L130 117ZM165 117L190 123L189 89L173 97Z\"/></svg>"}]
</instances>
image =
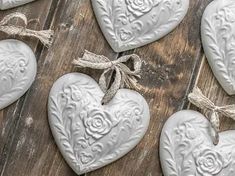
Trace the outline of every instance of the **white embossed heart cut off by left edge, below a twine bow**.
<instances>
[{"instance_id":1,"label":"white embossed heart cut off by left edge, below a twine bow","mask_svg":"<svg viewBox=\"0 0 235 176\"><path fill-rule=\"evenodd\" d=\"M36 58L28 45L18 40L0 41L0 110L30 88L36 73Z\"/></svg>"}]
</instances>

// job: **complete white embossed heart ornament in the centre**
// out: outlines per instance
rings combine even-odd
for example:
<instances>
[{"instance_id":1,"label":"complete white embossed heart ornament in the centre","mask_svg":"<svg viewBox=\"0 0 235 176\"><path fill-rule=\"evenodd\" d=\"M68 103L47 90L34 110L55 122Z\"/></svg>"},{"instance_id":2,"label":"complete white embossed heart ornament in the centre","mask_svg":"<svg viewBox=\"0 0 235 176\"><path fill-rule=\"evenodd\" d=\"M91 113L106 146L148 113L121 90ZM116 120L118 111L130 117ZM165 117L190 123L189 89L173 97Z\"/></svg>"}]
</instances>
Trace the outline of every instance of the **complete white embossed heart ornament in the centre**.
<instances>
[{"instance_id":1,"label":"complete white embossed heart ornament in the centre","mask_svg":"<svg viewBox=\"0 0 235 176\"><path fill-rule=\"evenodd\" d=\"M80 73L62 76L51 89L50 127L77 174L119 159L140 142L148 128L149 107L139 93L120 89L102 106L103 96L95 80Z\"/></svg>"}]
</instances>

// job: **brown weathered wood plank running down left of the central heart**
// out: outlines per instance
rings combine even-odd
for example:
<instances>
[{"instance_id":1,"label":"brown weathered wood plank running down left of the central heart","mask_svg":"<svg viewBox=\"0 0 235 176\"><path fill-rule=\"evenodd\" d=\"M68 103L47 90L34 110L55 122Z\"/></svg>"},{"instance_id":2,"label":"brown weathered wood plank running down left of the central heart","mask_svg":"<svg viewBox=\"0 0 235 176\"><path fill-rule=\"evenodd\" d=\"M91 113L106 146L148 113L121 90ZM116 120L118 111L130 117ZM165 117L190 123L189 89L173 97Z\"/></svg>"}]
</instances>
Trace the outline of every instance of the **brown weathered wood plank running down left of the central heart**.
<instances>
[{"instance_id":1,"label":"brown weathered wood plank running down left of the central heart","mask_svg":"<svg viewBox=\"0 0 235 176\"><path fill-rule=\"evenodd\" d=\"M2 175L75 175L61 157L49 129L47 98L50 88L57 78L75 71L71 62L85 49L117 57L100 35L90 1L58 1L51 26L56 30L55 42L40 56L38 76L23 103ZM83 71L97 78L96 71Z\"/></svg>"}]
</instances>

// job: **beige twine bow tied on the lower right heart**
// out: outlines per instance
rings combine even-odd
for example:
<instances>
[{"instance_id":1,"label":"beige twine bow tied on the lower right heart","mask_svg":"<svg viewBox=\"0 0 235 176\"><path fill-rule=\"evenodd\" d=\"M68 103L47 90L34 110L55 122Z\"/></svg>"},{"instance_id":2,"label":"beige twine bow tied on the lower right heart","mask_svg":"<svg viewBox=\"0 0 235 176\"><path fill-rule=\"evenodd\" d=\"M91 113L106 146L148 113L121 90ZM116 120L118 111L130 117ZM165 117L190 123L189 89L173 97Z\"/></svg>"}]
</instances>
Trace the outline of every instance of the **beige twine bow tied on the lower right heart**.
<instances>
[{"instance_id":1,"label":"beige twine bow tied on the lower right heart","mask_svg":"<svg viewBox=\"0 0 235 176\"><path fill-rule=\"evenodd\" d=\"M202 91L195 87L188 95L189 101L195 106L199 107L203 110L209 110L212 112L210 117L211 127L215 131L215 135L213 136L213 143L217 145L219 143L219 132L220 132L220 116L224 115L235 120L235 105L226 105L226 106L216 106L209 98L203 95Z\"/></svg>"}]
</instances>

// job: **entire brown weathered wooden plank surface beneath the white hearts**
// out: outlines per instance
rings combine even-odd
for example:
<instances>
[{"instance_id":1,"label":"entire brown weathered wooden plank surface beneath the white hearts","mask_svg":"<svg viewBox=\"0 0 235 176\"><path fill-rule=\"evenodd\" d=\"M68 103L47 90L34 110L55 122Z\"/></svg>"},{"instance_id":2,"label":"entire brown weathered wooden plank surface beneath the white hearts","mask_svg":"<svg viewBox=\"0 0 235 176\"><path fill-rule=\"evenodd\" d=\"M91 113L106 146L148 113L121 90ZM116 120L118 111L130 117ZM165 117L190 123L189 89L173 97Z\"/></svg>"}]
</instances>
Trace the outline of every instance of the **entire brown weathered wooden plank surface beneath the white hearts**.
<instances>
[{"instance_id":1,"label":"entire brown weathered wooden plank surface beneath the white hearts","mask_svg":"<svg viewBox=\"0 0 235 176\"><path fill-rule=\"evenodd\" d=\"M202 13L212 0L190 0L183 22L169 35L150 45L115 53L104 39L90 0L37 0L12 10L38 19L33 29L54 29L55 42L46 49L35 39L19 38L35 51L38 74L30 90L0 111L1 176L75 176L58 151L48 125L47 97L53 82L77 71L71 62L85 49L111 59L136 53L145 59L141 93L151 110L149 130L140 144L120 160L86 176L161 176L158 146L164 122L174 112L189 108L187 95L194 85L217 104L235 103L220 87L208 66L200 41ZM19 21L15 21L19 23ZM0 39L12 38L0 33ZM91 70L82 70L97 79ZM223 119L223 130L235 122Z\"/></svg>"}]
</instances>

